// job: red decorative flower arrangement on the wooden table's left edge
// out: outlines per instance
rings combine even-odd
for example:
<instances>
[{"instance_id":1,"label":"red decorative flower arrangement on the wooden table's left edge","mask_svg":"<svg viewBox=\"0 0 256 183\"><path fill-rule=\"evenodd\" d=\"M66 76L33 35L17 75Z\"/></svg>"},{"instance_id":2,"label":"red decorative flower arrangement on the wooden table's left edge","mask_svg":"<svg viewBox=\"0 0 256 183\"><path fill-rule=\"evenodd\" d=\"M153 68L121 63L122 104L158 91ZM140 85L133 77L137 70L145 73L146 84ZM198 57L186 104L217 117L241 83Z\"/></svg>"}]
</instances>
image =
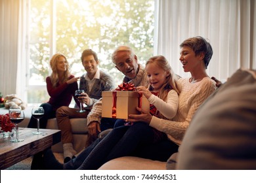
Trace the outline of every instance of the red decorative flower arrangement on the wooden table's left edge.
<instances>
[{"instance_id":1,"label":"red decorative flower arrangement on the wooden table's left edge","mask_svg":"<svg viewBox=\"0 0 256 183\"><path fill-rule=\"evenodd\" d=\"M12 133L12 129L15 125L11 122L9 114L1 114L0 115L0 124L1 124L1 132L4 137L10 137Z\"/></svg>"}]
</instances>

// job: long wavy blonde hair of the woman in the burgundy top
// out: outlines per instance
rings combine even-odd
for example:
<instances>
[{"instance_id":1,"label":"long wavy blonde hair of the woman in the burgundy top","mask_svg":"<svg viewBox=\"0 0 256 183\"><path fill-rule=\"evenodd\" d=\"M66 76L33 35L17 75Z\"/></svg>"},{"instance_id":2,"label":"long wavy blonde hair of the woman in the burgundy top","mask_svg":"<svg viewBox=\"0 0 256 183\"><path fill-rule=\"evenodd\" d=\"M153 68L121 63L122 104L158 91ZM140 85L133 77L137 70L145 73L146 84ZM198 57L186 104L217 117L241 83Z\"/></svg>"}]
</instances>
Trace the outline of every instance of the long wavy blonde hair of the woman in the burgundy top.
<instances>
[{"instance_id":1,"label":"long wavy blonde hair of the woman in the burgundy top","mask_svg":"<svg viewBox=\"0 0 256 183\"><path fill-rule=\"evenodd\" d=\"M67 70L64 71L64 76L62 78L58 78L58 71L57 71L57 67L56 67L58 58L60 58L60 57L65 58L66 68L67 68ZM70 77L70 75L71 75L70 74L70 66L68 65L68 61L67 61L66 57L63 54L54 54L53 57L51 58L50 65L51 65L51 69L52 69L52 73L51 73L51 76L50 76L51 82L53 84L53 88L56 88L58 82L59 83L64 83Z\"/></svg>"}]
</instances>

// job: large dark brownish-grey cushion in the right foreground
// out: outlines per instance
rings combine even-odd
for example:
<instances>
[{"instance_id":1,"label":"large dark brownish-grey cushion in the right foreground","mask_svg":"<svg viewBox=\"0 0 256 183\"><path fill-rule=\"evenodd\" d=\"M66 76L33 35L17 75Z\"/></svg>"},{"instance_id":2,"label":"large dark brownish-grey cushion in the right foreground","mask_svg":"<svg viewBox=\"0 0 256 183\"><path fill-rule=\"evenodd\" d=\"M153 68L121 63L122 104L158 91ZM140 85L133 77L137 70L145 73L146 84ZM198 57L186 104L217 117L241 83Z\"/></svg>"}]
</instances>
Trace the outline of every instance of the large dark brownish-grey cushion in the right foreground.
<instances>
[{"instance_id":1,"label":"large dark brownish-grey cushion in the right foreground","mask_svg":"<svg viewBox=\"0 0 256 183\"><path fill-rule=\"evenodd\" d=\"M239 69L202 104L184 135L176 169L256 169L255 71Z\"/></svg>"}]
</instances>

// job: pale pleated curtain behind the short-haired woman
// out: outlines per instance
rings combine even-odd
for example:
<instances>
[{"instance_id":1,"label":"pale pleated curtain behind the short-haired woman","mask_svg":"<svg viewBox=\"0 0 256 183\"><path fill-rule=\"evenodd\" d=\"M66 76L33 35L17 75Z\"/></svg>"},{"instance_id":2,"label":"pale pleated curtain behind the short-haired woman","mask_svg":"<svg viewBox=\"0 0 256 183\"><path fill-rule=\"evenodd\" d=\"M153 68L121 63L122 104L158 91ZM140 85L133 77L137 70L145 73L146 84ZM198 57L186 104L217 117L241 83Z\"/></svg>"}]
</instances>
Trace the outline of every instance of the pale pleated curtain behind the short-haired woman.
<instances>
[{"instance_id":1,"label":"pale pleated curtain behind the short-haired woman","mask_svg":"<svg viewBox=\"0 0 256 183\"><path fill-rule=\"evenodd\" d=\"M200 35L213 46L207 73L226 80L240 67L256 69L254 0L156 0L154 54L165 56L181 76L182 41Z\"/></svg>"}]
</instances>

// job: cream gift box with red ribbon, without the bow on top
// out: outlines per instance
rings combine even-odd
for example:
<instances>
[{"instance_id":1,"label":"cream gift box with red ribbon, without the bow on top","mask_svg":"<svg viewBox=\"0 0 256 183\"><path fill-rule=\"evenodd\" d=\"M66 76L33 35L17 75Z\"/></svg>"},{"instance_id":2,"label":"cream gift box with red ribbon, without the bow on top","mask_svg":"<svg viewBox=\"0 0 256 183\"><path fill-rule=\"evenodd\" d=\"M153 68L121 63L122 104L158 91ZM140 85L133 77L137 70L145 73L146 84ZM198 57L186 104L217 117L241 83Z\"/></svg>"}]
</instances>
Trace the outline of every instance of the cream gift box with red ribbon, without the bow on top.
<instances>
[{"instance_id":1,"label":"cream gift box with red ribbon, without the bow on top","mask_svg":"<svg viewBox=\"0 0 256 183\"><path fill-rule=\"evenodd\" d=\"M102 117L128 119L129 114L139 114L136 107L146 112L150 110L148 99L144 95L139 95L139 92L102 92Z\"/></svg>"}]
</instances>

